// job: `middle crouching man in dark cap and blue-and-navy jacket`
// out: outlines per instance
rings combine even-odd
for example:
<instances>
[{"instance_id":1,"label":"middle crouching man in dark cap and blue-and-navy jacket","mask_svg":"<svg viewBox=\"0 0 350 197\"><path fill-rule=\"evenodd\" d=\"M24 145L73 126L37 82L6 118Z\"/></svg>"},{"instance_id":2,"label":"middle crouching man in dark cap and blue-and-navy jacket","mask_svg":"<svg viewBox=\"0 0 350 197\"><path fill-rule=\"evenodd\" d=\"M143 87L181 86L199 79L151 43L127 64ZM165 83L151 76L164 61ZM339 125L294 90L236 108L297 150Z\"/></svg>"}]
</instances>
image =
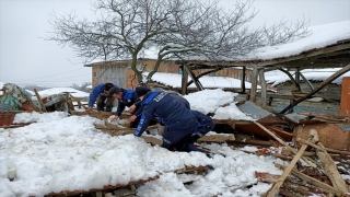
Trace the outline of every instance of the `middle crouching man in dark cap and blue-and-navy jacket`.
<instances>
[{"instance_id":1,"label":"middle crouching man in dark cap and blue-and-navy jacket","mask_svg":"<svg viewBox=\"0 0 350 197\"><path fill-rule=\"evenodd\" d=\"M118 120L119 116L121 115L125 107L133 106L133 113L137 112L139 105L141 104L139 97L136 95L135 90L125 90L120 88L112 88L109 90L109 95L114 99L118 100L118 108L116 111L115 117L112 121ZM132 114L133 114L132 113ZM133 121L130 123L130 128L136 128L140 121L140 118L136 118Z\"/></svg>"}]
</instances>

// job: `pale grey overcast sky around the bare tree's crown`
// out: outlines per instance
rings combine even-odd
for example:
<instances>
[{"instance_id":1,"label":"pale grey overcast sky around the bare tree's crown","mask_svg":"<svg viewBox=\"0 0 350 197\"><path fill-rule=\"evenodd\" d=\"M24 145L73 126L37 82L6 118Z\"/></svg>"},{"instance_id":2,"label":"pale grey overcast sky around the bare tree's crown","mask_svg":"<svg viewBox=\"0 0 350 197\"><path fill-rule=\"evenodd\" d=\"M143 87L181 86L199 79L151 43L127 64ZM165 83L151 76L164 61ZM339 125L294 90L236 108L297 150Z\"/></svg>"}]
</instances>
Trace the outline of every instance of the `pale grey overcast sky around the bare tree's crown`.
<instances>
[{"instance_id":1,"label":"pale grey overcast sky around the bare tree's crown","mask_svg":"<svg viewBox=\"0 0 350 197\"><path fill-rule=\"evenodd\" d=\"M242 0L244 1L244 0ZM220 0L225 8L234 0ZM350 20L350 0L256 0L254 24L276 21L311 21L319 25ZM51 14L74 10L93 18L89 0L0 0L0 81L22 85L69 86L91 82L91 68L74 51L44 40L51 31Z\"/></svg>"}]
</instances>

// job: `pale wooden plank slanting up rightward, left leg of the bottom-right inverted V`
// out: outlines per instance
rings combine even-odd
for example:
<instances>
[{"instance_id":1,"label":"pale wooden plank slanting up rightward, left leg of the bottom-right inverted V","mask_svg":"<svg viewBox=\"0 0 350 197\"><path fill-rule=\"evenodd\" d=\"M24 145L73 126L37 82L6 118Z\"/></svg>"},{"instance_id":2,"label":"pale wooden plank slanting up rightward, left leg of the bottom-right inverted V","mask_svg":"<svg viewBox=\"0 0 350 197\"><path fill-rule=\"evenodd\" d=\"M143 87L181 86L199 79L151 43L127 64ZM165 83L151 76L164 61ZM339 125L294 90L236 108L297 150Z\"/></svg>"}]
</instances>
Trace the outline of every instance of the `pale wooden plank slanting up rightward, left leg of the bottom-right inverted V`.
<instances>
[{"instance_id":1,"label":"pale wooden plank slanting up rightward, left leg of the bottom-right inverted V","mask_svg":"<svg viewBox=\"0 0 350 197\"><path fill-rule=\"evenodd\" d=\"M295 154L295 157L293 158L293 160L290 162L290 164L288 165L288 167L284 170L283 174L281 175L281 177L278 178L278 181L272 185L272 187L266 192L262 196L266 197L275 197L281 185L283 184L284 179L287 178L287 176L291 173L292 169L294 167L295 163L299 161L299 159L303 155L305 149L307 148L307 144L303 144L302 148L299 150L299 152Z\"/></svg>"}]
</instances>

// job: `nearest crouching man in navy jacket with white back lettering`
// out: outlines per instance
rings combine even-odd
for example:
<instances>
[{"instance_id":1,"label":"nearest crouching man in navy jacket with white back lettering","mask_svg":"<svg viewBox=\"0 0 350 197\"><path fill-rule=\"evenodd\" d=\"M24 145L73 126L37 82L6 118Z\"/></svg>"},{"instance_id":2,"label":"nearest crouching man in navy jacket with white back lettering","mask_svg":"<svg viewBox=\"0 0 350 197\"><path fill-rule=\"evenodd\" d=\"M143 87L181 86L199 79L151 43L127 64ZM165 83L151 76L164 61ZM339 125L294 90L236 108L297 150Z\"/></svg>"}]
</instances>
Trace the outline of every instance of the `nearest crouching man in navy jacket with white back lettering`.
<instances>
[{"instance_id":1,"label":"nearest crouching man in navy jacket with white back lettering","mask_svg":"<svg viewBox=\"0 0 350 197\"><path fill-rule=\"evenodd\" d=\"M164 123L162 147L174 150L177 143L190 137L197 130L197 119L190 109L164 91L150 91L144 86L136 88L136 93L142 101L140 123L133 132L140 137L149 126L153 116Z\"/></svg>"}]
</instances>

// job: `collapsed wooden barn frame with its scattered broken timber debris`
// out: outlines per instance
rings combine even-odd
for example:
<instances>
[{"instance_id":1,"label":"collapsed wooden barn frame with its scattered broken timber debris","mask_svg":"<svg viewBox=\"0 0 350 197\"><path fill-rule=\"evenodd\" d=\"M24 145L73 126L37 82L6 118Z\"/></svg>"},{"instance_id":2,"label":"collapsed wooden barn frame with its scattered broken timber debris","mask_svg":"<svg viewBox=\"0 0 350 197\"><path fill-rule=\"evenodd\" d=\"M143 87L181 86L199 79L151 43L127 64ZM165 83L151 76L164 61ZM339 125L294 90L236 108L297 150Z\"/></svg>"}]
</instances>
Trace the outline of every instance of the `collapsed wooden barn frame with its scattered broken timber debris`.
<instances>
[{"instance_id":1,"label":"collapsed wooden barn frame with its scattered broken timber debris","mask_svg":"<svg viewBox=\"0 0 350 197\"><path fill-rule=\"evenodd\" d=\"M217 130L220 130L222 134L206 136L200 139L200 143L197 146L205 152L219 154L212 152L212 150L202 148L201 144L228 143L232 149L238 146L254 144L259 148L258 151L253 152L255 154L268 154L288 161L288 166L278 166L283 171L282 175L256 172L255 175L259 182L273 183L265 196L275 196L276 194L282 196L349 195L350 181L342 178L341 175L350 175L350 79L342 79L341 94L338 96L340 99L335 100L334 97L319 94L331 81L350 70L349 54L350 39L348 37L347 39L337 39L316 48L298 51L298 54L290 54L287 57L238 61L177 61L183 70L180 89L183 94L188 93L187 86L190 83L194 83L198 91L205 89L200 82L200 78L205 74L196 76L194 71L196 69L209 70L207 73L210 73L210 71L214 72L229 67L240 67L243 71L242 79L245 79L246 70L253 71L252 86L247 90L246 83L242 80L241 89L236 90L241 93L236 97L238 100L236 101L236 106L241 112L250 115L253 120L214 119ZM340 69L318 84L318 86L314 88L312 83L306 82L310 84L310 89L303 89L301 81L305 82L307 80L303 78L302 70L323 68ZM264 73L270 70L280 70L285 73L292 81L295 91L291 92L290 95L269 93ZM292 77L290 71L294 71L295 77ZM191 81L188 81L188 77L191 78ZM257 91L258 83L260 92ZM302 111L296 107L305 102L310 102L306 100L312 97L323 97L324 100L319 105L312 104L314 111L311 111L311 107L303 107ZM282 100L288 102L279 102ZM88 115L84 112L75 112L71 100L65 99L62 101L70 106L67 111L71 115ZM34 108L33 105L30 108L22 108L26 112L37 111L46 113L45 104L47 101L43 101L38 96L38 106L42 106L42 109L39 107ZM273 102L281 104L279 107L276 107L279 111L272 111L272 106L277 106ZM324 107L326 106L326 102L338 102L338 108L334 107L334 111L325 113ZM77 103L79 107L84 108L84 105L79 101ZM306 105L311 106L311 104ZM4 114L12 114L13 120L13 112L4 112ZM89 115L105 121L110 116L110 113L92 113ZM210 115L213 116L214 113ZM124 114L124 116L128 117L129 114ZM13 128L24 126L13 124L12 120L10 118L1 127ZM105 121L103 125L95 125L95 127L110 136L124 136L133 131L127 127L110 125L108 121ZM154 128L150 127L150 129ZM153 146L160 143L160 139L156 137L144 137L144 140ZM209 166L188 167L175 173L200 173L206 167ZM113 193L119 196L132 196L136 194L137 184L158 177L130 182L124 185L106 185L103 188L91 190L49 193L47 196L79 196L85 193L94 196L110 196ZM249 185L246 187L249 187Z\"/></svg>"}]
</instances>

